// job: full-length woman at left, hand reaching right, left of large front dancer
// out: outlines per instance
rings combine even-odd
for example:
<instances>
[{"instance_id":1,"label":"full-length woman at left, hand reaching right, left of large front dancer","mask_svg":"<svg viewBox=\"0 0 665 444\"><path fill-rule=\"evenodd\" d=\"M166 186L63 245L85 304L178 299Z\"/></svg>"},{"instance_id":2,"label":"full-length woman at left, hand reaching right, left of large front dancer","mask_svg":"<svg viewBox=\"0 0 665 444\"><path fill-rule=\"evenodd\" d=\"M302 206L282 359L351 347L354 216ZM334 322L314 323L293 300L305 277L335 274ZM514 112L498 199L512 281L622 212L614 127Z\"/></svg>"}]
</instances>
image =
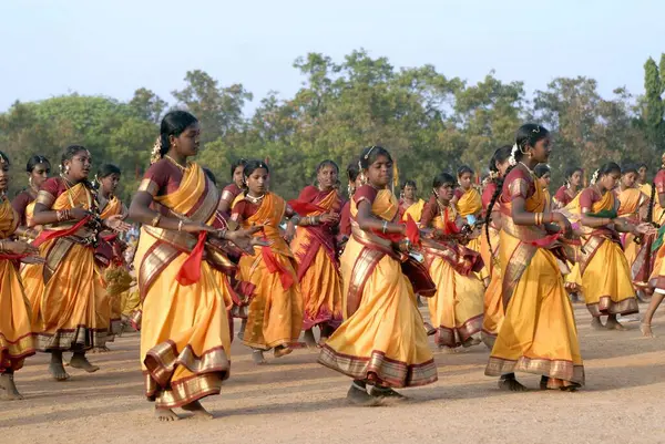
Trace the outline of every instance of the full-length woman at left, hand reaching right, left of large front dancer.
<instances>
[{"instance_id":1,"label":"full-length woman at left, hand reaching right, left of large front dancer","mask_svg":"<svg viewBox=\"0 0 665 444\"><path fill-rule=\"evenodd\" d=\"M100 218L96 192L88 180L92 157L85 147L69 146L61 174L42 185L32 223L44 230L33 245L45 259L34 272L23 273L32 306L37 348L51 353L49 371L57 381L69 379L62 353L73 352L70 365L89 373L99 370L85 352L104 347L110 303L95 262L94 246L103 229L126 230L122 216Z\"/></svg>"}]
</instances>

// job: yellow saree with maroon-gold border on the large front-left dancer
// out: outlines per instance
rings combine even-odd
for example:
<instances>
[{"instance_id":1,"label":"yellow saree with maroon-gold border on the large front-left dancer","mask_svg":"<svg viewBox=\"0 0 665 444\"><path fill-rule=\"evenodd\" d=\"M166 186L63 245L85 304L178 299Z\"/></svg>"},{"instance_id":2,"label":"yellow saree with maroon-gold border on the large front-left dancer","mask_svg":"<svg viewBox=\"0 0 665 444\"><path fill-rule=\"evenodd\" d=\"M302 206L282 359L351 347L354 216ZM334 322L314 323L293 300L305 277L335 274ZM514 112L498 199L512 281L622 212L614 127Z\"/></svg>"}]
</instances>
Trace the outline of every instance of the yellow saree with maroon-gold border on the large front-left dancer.
<instances>
[{"instance_id":1,"label":"yellow saree with maroon-gold border on the large front-left dancer","mask_svg":"<svg viewBox=\"0 0 665 444\"><path fill-rule=\"evenodd\" d=\"M212 225L219 194L196 164L183 173L176 190L153 182L160 161L146 172L139 190L151 193L162 213ZM134 257L143 311L141 365L145 395L160 409L173 409L218 394L228 378L231 338L219 288L207 261L197 281L176 279L196 236L144 225Z\"/></svg>"}]
</instances>

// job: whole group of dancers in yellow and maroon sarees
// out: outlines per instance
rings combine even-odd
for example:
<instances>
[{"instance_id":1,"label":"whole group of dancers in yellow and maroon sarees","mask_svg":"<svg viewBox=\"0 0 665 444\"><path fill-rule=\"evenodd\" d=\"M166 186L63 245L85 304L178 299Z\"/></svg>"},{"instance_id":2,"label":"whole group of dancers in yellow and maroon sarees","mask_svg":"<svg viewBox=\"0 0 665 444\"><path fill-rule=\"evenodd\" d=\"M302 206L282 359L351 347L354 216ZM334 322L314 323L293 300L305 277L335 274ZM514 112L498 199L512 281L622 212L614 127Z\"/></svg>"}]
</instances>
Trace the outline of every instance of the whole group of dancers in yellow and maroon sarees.
<instances>
[{"instance_id":1,"label":"whole group of dancers in yellow and maroon sarees","mask_svg":"<svg viewBox=\"0 0 665 444\"><path fill-rule=\"evenodd\" d=\"M233 164L219 190L190 159L200 137L188 112L164 116L129 209L113 194L120 169L102 165L91 180L79 145L53 177L47 158L32 157L29 187L10 202L0 152L2 399L22 397L13 376L35 351L51 354L58 381L66 365L99 370L86 352L117 333L130 290L111 287L131 268L145 395L162 421L180 419L176 407L209 417L200 400L229 375L234 318L256 364L270 350L318 347L319 363L352 379L357 405L437 381L428 335L444 352L484 343L485 374L503 390L525 390L515 372L540 374L543 390L576 390L584 366L571 295L594 328L612 330L637 312L637 292L651 297L641 328L652 335L665 296L663 169L652 187L646 166L610 162L584 187L573 167L551 197L550 133L525 124L493 153L481 185L462 166L433 177L426 200L412 180L398 198L390 153L370 146L346 168L348 200L337 164L324 161L315 184L286 202L269 190L263 161ZM119 236L127 221L141 225L133 267Z\"/></svg>"}]
</instances>

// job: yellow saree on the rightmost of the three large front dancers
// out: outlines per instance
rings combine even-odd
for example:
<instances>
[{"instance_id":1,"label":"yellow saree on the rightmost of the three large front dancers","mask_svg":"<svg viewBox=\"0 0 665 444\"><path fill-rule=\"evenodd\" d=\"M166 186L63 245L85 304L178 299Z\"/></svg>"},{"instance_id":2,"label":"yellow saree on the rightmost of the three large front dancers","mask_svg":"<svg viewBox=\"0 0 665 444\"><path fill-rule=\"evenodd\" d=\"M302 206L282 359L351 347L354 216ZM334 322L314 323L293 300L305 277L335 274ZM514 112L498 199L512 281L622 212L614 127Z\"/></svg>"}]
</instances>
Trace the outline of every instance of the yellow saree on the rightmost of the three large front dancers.
<instances>
[{"instance_id":1,"label":"yellow saree on the rightmost of the three large front dancers","mask_svg":"<svg viewBox=\"0 0 665 444\"><path fill-rule=\"evenodd\" d=\"M548 388L584 384L577 329L572 304L563 287L556 257L539 247L542 226L521 226L512 219L511 200L525 199L529 213L545 205L536 177L518 165L502 192L501 262L505 318L494 342L485 374L499 376L516 371L548 376Z\"/></svg>"}]
</instances>

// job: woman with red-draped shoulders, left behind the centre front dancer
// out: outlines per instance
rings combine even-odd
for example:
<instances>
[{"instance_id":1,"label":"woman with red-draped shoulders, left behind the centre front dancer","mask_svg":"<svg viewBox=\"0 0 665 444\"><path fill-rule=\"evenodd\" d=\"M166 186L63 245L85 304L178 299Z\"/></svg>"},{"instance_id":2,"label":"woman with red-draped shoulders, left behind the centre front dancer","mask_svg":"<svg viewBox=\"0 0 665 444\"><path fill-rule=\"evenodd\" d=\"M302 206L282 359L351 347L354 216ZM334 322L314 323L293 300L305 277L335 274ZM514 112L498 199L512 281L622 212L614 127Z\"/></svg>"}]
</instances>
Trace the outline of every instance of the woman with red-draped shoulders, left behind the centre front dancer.
<instances>
[{"instance_id":1,"label":"woman with red-draped shoulders, left behind the centre front dancer","mask_svg":"<svg viewBox=\"0 0 665 444\"><path fill-rule=\"evenodd\" d=\"M320 329L321 344L342 320L341 276L335 238L344 204L335 188L338 175L335 162L321 162L316 168L316 186L305 187L298 199L289 203L303 216L290 248L304 299L303 330L308 347L316 347L315 326Z\"/></svg>"}]
</instances>

